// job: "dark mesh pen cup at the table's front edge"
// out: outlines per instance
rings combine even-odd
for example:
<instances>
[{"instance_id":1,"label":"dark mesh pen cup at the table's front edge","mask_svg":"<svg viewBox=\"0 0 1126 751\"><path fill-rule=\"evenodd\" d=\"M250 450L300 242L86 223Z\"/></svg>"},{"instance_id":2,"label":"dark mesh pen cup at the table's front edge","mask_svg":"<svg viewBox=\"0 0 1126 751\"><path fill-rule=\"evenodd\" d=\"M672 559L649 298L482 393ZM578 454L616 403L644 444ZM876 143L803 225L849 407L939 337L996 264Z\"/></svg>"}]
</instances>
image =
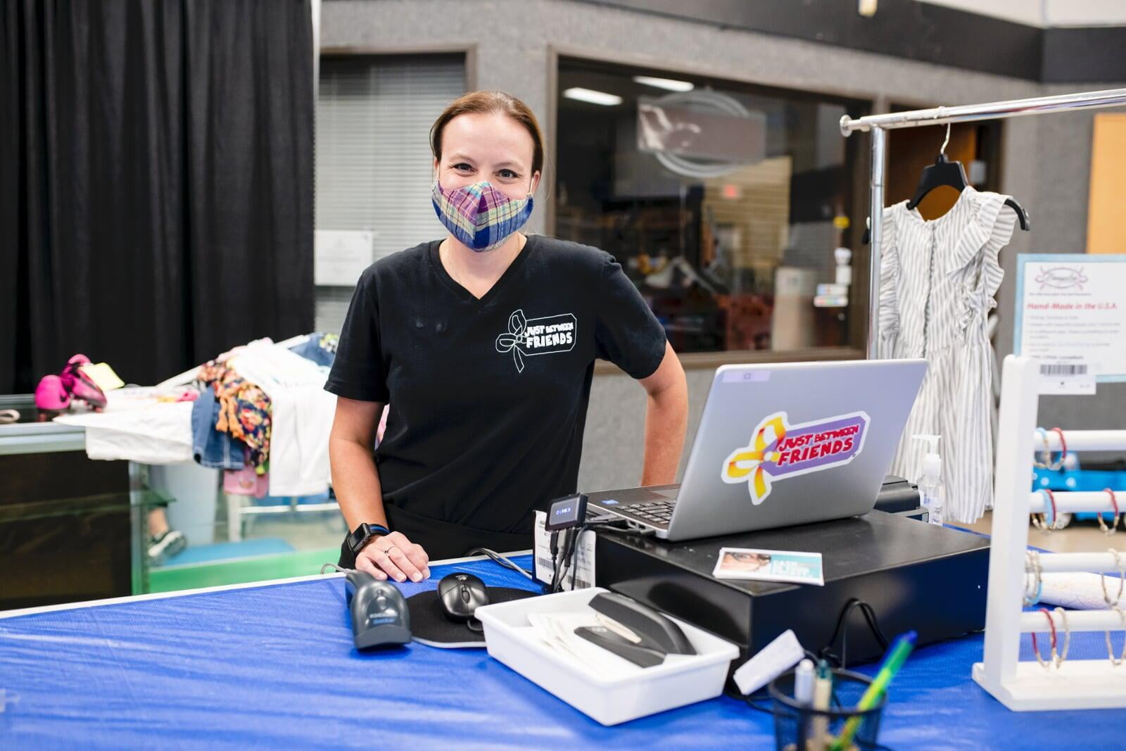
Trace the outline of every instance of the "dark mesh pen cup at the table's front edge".
<instances>
[{"instance_id":1,"label":"dark mesh pen cup at the table's front edge","mask_svg":"<svg viewBox=\"0 0 1126 751\"><path fill-rule=\"evenodd\" d=\"M856 733L846 751L882 749L876 742L879 719L887 704L885 692L870 709L857 709L860 697L872 683L867 676L851 670L833 670L833 692L828 709L814 709L794 698L794 671L770 682L774 700L775 744L778 751L825 751L856 719Z\"/></svg>"}]
</instances>

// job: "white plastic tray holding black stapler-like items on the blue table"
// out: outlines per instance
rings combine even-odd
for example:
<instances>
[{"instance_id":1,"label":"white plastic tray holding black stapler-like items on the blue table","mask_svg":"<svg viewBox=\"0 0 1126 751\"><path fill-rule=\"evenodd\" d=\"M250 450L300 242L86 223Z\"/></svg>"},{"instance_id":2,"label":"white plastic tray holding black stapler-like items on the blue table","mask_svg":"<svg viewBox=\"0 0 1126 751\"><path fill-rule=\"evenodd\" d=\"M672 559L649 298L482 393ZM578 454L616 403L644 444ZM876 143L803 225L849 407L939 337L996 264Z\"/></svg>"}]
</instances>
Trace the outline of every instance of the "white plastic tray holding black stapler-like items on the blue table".
<instances>
[{"instance_id":1,"label":"white plastic tray holding black stapler-like items on the blue table","mask_svg":"<svg viewBox=\"0 0 1126 751\"><path fill-rule=\"evenodd\" d=\"M489 654L604 725L704 701L723 692L727 667L739 656L739 650L682 620L671 618L683 629L696 655L670 655L663 664L623 677L598 674L565 659L530 628L529 614L590 610L587 604L605 591L596 587L479 608L476 616L484 625Z\"/></svg>"}]
</instances>

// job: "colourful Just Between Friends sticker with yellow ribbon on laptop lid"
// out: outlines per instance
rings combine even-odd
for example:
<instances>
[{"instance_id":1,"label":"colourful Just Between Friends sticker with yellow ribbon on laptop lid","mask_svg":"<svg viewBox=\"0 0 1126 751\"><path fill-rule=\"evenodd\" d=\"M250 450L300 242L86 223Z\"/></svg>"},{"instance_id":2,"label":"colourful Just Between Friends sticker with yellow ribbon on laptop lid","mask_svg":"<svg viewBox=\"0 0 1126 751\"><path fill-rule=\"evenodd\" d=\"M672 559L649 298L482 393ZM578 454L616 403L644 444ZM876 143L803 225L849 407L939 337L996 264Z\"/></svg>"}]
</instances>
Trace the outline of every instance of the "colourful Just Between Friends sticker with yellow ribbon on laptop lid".
<instances>
[{"instance_id":1,"label":"colourful Just Between Friends sticker with yellow ribbon on laptop lid","mask_svg":"<svg viewBox=\"0 0 1126 751\"><path fill-rule=\"evenodd\" d=\"M869 422L866 412L851 412L789 424L785 412L775 412L754 429L749 446L724 459L720 476L731 485L745 482L758 506L779 480L851 462L864 450Z\"/></svg>"}]
</instances>

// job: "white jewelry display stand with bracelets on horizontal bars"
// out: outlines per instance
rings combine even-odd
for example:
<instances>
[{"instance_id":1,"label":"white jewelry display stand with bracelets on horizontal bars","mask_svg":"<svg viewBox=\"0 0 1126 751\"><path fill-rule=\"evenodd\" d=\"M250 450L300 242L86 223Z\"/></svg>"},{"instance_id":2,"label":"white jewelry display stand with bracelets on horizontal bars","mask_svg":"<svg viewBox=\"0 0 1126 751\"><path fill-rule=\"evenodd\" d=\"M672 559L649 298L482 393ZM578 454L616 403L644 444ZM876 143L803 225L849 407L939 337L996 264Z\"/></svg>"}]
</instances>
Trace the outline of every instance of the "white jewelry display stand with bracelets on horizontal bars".
<instances>
[{"instance_id":1,"label":"white jewelry display stand with bracelets on horizontal bars","mask_svg":"<svg viewBox=\"0 0 1126 751\"><path fill-rule=\"evenodd\" d=\"M1036 661L1019 660L1021 634L1049 631L1043 613L1024 613L1027 588L1026 551L1030 513L1051 512L1043 493L1030 492L1033 456L1044 446L1036 432L1039 400L1039 364L1028 357L1004 358L1001 381L1001 417L997 450L992 548L990 551L989 598L985 610L984 661L974 665L973 677L1004 706L1015 712L1052 709L1105 709L1126 707L1126 664L1114 665L1108 658L1064 660L1045 669ZM1067 450L1126 450L1126 430L1064 431ZM1062 450L1058 435L1047 433L1048 448ZM1106 492L1057 492L1055 512L1110 512L1115 507ZM1126 511L1126 493L1115 493ZM1117 522L1117 518L1115 519ZM1126 537L1124 537L1126 538ZM1110 545L1108 544L1108 547ZM1126 552L1121 555L1126 562ZM1043 572L1089 571L1117 573L1112 553L1047 553L1039 557ZM1117 591L1118 580L1108 580ZM1123 634L1123 620L1114 610L1071 610L1066 622L1052 616L1055 632L1109 631ZM1043 649L1043 647L1042 647Z\"/></svg>"}]
</instances>

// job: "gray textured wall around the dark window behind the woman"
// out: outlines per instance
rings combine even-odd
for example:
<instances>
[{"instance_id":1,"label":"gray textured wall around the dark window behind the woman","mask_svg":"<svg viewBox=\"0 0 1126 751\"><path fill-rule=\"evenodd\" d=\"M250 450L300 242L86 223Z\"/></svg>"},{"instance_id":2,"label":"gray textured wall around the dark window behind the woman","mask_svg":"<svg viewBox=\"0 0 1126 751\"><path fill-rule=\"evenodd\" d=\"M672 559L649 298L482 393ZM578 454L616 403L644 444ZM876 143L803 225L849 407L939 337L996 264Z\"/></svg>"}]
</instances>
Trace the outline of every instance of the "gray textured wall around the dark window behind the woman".
<instances>
[{"instance_id":1,"label":"gray textured wall around the dark window behind the woman","mask_svg":"<svg viewBox=\"0 0 1126 751\"><path fill-rule=\"evenodd\" d=\"M506 89L522 98L545 128L549 46L580 56L873 101L956 105L1112 88L1044 86L569 0L330 0L323 6L321 44L385 50L475 44L477 87ZM1016 254L1084 248L1091 117L1090 113L1048 115L1012 119L1004 126L1002 190L1028 208L1033 231L1018 232L1002 256L1007 277L998 309L1001 355L1012 347ZM540 206L545 197L540 189ZM545 212L537 209L529 229L542 232L544 218ZM711 372L689 373L689 436L695 433L709 381ZM1124 395L1126 387L1102 386L1096 397L1045 399L1040 422L1071 428L1126 426ZM640 479L644 413L644 392L626 376L595 379L580 488L629 485Z\"/></svg>"}]
</instances>

